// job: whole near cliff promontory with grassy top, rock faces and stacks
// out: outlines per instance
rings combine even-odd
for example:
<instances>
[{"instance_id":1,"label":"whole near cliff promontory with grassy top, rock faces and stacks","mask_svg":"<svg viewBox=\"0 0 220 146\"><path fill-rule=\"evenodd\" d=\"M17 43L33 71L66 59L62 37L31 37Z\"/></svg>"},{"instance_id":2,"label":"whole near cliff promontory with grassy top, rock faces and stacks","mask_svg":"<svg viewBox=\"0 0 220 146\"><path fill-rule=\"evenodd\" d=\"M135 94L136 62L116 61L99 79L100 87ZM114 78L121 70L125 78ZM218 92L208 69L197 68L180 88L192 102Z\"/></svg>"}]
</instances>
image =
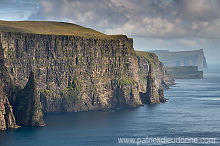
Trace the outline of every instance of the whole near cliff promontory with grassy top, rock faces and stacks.
<instances>
[{"instance_id":1,"label":"whole near cliff promontory with grassy top, rock faces and stacks","mask_svg":"<svg viewBox=\"0 0 220 146\"><path fill-rule=\"evenodd\" d=\"M0 21L0 53L0 129L43 126L44 112L165 102L173 83L132 39L75 24Z\"/></svg>"}]
</instances>

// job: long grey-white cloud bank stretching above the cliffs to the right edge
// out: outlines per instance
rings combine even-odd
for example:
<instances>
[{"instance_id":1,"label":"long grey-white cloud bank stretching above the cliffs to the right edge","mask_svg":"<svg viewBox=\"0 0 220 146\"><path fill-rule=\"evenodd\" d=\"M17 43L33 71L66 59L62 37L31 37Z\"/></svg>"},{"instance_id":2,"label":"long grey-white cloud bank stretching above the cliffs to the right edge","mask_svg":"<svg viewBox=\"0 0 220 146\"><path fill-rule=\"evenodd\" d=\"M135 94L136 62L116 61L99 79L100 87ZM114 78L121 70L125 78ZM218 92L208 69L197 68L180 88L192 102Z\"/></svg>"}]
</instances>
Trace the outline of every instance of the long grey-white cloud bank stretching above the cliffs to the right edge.
<instances>
[{"instance_id":1,"label":"long grey-white cloud bank stretching above the cliffs to the right edge","mask_svg":"<svg viewBox=\"0 0 220 146\"><path fill-rule=\"evenodd\" d=\"M29 20L56 20L132 37L220 38L219 0L39 0Z\"/></svg>"}]
</instances>

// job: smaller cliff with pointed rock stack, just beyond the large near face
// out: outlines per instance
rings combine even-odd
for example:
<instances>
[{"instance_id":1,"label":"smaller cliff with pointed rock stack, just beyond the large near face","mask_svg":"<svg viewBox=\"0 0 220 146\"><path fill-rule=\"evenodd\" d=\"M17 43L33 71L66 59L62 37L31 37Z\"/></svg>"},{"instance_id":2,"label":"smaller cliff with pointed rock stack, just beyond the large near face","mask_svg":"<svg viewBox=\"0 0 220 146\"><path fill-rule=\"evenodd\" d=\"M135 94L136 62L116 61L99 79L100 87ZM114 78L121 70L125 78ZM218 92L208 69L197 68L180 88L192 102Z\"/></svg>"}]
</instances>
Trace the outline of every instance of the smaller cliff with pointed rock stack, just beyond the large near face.
<instances>
[{"instance_id":1,"label":"smaller cliff with pointed rock stack, just beyond the large near face","mask_svg":"<svg viewBox=\"0 0 220 146\"><path fill-rule=\"evenodd\" d=\"M154 53L136 51L139 67L140 97L143 103L166 102L163 90L175 84Z\"/></svg>"}]
</instances>

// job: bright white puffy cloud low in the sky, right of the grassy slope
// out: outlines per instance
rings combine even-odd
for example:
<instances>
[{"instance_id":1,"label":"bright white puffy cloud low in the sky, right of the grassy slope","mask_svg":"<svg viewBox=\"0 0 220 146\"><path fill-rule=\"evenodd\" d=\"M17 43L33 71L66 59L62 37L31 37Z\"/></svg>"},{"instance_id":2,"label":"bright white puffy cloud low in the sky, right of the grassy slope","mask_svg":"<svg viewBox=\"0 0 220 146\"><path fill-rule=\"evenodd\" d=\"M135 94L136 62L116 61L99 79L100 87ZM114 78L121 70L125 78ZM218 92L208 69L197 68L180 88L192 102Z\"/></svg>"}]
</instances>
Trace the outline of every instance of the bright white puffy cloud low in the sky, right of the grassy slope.
<instances>
[{"instance_id":1,"label":"bright white puffy cloud low in the sky, right of the grassy slope","mask_svg":"<svg viewBox=\"0 0 220 146\"><path fill-rule=\"evenodd\" d=\"M142 19L138 18L135 21L129 21L120 28L107 29L106 32L110 34L120 32L138 37L184 37L187 33L189 33L189 31L180 27L180 23L180 19L169 21L159 17L145 17Z\"/></svg>"}]
</instances>

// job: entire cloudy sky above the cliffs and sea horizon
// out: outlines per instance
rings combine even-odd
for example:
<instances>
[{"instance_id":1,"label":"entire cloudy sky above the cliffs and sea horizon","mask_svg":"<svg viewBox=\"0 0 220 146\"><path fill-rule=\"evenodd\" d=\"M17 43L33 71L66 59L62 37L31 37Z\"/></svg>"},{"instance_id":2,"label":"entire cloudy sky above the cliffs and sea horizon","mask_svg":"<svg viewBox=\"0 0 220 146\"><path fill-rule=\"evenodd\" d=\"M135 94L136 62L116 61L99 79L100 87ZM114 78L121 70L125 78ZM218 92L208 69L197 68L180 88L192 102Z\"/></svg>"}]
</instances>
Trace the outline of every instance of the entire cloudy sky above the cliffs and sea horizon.
<instances>
[{"instance_id":1,"label":"entire cloudy sky above the cliffs and sea horizon","mask_svg":"<svg viewBox=\"0 0 220 146\"><path fill-rule=\"evenodd\" d=\"M220 61L220 0L0 0L0 20L70 22L125 34L135 50L204 49Z\"/></svg>"}]
</instances>

